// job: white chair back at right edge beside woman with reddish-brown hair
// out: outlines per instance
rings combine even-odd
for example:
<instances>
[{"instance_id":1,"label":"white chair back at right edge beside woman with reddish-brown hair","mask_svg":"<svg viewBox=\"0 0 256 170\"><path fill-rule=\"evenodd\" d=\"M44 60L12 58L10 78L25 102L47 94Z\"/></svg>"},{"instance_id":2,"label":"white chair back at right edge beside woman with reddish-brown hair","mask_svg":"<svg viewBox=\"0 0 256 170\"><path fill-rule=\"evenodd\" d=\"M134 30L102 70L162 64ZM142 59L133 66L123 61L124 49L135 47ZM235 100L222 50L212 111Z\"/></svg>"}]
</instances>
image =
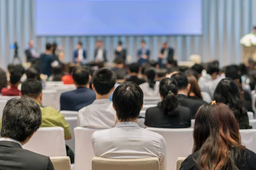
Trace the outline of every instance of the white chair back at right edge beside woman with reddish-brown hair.
<instances>
[{"instance_id":1,"label":"white chair back at right edge beside woman with reddish-brown hair","mask_svg":"<svg viewBox=\"0 0 256 170\"><path fill-rule=\"evenodd\" d=\"M242 144L247 148L256 152L256 129L239 130Z\"/></svg>"}]
</instances>

